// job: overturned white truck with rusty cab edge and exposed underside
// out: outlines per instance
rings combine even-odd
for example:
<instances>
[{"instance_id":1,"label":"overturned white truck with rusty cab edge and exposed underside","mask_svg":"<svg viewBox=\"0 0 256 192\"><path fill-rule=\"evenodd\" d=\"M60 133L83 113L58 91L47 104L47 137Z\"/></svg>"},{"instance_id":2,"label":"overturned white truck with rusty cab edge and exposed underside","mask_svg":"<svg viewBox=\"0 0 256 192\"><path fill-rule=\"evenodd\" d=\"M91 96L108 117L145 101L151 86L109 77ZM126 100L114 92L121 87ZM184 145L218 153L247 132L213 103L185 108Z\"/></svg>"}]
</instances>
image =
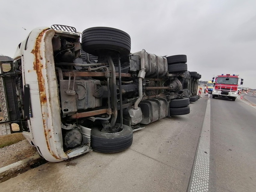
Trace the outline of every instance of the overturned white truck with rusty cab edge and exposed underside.
<instances>
[{"instance_id":1,"label":"overturned white truck with rusty cab edge and exposed underside","mask_svg":"<svg viewBox=\"0 0 256 192\"><path fill-rule=\"evenodd\" d=\"M58 162L92 149L125 150L144 125L188 114L186 55L130 49L130 36L109 27L82 34L60 25L32 30L10 70L1 71L1 79L9 79L9 96L17 93L10 97L12 117L5 125L14 133L18 124L46 160Z\"/></svg>"}]
</instances>

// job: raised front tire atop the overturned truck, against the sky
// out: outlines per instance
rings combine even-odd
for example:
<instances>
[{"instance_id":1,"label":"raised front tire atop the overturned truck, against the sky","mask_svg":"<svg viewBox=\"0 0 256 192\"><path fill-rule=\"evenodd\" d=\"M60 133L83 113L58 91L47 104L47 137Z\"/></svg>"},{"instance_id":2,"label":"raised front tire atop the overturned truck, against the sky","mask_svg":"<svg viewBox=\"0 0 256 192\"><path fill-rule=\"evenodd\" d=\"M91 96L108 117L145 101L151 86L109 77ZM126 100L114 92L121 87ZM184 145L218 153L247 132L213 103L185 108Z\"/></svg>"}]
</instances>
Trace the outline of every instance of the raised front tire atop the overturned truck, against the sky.
<instances>
[{"instance_id":1,"label":"raised front tire atop the overturned truck, against the sky","mask_svg":"<svg viewBox=\"0 0 256 192\"><path fill-rule=\"evenodd\" d=\"M131 38L119 29L92 27L83 31L82 49L96 56L99 55L100 50L115 50L120 56L125 56L130 54Z\"/></svg>"}]
</instances>

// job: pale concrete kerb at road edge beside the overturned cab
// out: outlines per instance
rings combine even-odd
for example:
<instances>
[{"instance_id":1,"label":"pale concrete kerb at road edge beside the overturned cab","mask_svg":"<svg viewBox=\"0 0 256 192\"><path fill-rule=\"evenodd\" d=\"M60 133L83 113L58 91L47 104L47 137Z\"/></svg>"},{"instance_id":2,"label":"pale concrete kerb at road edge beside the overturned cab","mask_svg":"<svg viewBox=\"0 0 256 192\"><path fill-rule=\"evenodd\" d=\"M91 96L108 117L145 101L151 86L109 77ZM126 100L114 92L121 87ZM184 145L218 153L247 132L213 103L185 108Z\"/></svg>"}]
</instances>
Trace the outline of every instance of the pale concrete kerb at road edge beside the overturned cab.
<instances>
[{"instance_id":1,"label":"pale concrete kerb at road edge beside the overturned cab","mask_svg":"<svg viewBox=\"0 0 256 192\"><path fill-rule=\"evenodd\" d=\"M29 165L32 165L39 158L40 158L39 153L35 153L32 157L28 157L18 162L12 163L11 165L7 165L5 167L0 168L0 180L8 175L11 175L21 169L26 168Z\"/></svg>"}]
</instances>

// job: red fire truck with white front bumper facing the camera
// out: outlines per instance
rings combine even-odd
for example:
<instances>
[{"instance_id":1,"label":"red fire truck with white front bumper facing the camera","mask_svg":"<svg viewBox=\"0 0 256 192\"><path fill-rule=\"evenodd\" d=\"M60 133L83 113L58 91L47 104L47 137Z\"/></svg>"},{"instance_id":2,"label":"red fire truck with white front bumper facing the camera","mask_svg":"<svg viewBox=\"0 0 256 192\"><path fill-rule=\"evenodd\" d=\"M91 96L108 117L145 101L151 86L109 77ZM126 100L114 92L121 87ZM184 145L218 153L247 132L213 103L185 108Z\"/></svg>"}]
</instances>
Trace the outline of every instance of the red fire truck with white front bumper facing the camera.
<instances>
[{"instance_id":1,"label":"red fire truck with white front bumper facing the camera","mask_svg":"<svg viewBox=\"0 0 256 192\"><path fill-rule=\"evenodd\" d=\"M215 79L215 82L214 82ZM238 96L238 75L221 74L217 77L212 78L212 83L214 83L214 88L212 90L212 98L222 96L236 100ZM243 79L241 79L241 85L243 84Z\"/></svg>"}]
</instances>

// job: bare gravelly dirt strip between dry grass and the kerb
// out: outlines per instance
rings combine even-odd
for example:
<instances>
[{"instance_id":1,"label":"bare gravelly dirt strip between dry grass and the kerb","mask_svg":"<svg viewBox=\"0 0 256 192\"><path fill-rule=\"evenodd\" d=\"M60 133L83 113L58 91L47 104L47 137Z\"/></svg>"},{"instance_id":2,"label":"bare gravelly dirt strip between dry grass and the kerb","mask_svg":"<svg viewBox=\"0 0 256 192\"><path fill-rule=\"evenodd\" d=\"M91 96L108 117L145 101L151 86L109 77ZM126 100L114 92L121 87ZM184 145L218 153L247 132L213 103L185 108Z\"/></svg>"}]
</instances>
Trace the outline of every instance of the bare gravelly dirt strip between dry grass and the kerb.
<instances>
[{"instance_id":1,"label":"bare gravelly dirt strip between dry grass and the kerb","mask_svg":"<svg viewBox=\"0 0 256 192\"><path fill-rule=\"evenodd\" d=\"M26 139L0 148L0 168L31 157L35 152L37 152L36 148L30 145Z\"/></svg>"}]
</instances>

